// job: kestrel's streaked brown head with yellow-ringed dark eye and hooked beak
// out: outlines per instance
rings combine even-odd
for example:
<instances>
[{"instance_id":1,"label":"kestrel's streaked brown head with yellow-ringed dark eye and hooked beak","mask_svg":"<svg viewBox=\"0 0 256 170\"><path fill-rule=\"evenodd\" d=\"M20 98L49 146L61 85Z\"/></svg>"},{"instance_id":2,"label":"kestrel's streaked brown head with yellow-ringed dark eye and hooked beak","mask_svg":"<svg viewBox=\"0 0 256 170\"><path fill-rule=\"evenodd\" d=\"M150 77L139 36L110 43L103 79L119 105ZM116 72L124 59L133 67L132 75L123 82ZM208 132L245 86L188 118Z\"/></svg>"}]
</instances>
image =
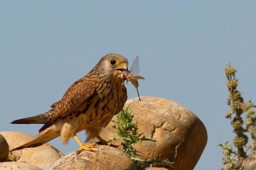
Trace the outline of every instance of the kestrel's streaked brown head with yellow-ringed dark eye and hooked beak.
<instances>
[{"instance_id":1,"label":"kestrel's streaked brown head with yellow-ringed dark eye and hooked beak","mask_svg":"<svg viewBox=\"0 0 256 170\"><path fill-rule=\"evenodd\" d=\"M107 54L101 58L99 63L93 68L93 72L98 72L107 79L116 79L118 73L128 71L128 60L119 54Z\"/></svg>"}]
</instances>

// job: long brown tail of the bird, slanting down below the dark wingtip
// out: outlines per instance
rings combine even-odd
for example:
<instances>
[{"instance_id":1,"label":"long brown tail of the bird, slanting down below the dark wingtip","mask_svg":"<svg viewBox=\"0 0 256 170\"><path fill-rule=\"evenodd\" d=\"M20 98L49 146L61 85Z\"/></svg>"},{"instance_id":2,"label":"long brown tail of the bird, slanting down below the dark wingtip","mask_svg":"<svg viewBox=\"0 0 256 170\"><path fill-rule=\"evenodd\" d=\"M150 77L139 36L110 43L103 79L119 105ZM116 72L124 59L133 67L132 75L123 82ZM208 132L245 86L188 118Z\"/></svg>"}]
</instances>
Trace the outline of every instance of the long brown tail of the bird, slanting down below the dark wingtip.
<instances>
[{"instance_id":1,"label":"long brown tail of the bird, slanting down below the dark wingtip","mask_svg":"<svg viewBox=\"0 0 256 170\"><path fill-rule=\"evenodd\" d=\"M46 142L49 142L50 140L57 138L60 135L60 131L56 132L50 128L40 132L38 135L36 135L34 138L30 139L23 145L14 148L10 150L10 152L14 150L20 150L24 148L34 148L43 145Z\"/></svg>"}]
</instances>

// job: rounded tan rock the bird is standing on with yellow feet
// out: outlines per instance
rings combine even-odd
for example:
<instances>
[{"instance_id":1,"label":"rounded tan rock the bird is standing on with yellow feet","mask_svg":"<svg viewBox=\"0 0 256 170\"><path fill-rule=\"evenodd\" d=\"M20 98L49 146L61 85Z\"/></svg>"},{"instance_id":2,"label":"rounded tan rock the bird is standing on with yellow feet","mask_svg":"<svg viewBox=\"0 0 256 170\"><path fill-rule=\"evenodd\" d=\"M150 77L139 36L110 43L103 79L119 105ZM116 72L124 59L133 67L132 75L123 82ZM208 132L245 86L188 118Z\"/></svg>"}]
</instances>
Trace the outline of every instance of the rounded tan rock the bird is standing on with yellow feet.
<instances>
[{"instance_id":1,"label":"rounded tan rock the bird is standing on with yellow feet","mask_svg":"<svg viewBox=\"0 0 256 170\"><path fill-rule=\"evenodd\" d=\"M57 160L49 170L76 169L76 170L135 170L133 160L123 151L105 145L94 148L96 152L82 151L76 156L71 152Z\"/></svg>"}]
</instances>

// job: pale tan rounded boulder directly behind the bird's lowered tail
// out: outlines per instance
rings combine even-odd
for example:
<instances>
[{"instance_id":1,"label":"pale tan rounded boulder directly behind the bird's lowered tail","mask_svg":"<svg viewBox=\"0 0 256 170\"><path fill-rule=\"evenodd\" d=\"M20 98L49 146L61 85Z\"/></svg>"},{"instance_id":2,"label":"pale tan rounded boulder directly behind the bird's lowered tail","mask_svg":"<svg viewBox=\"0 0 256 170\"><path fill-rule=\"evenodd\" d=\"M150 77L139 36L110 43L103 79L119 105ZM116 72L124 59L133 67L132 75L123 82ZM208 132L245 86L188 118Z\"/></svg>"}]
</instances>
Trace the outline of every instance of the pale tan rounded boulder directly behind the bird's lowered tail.
<instances>
[{"instance_id":1,"label":"pale tan rounded boulder directly behind the bird's lowered tail","mask_svg":"<svg viewBox=\"0 0 256 170\"><path fill-rule=\"evenodd\" d=\"M0 133L4 136L4 138L8 142L11 149L18 147L18 146L22 145L23 143L25 143L26 141L28 141L29 139L33 138L32 135L29 135L27 133L22 133L22 132L5 131L5 132L0 132ZM45 147L48 147L50 149L46 149ZM36 153L34 154L34 152L36 152ZM43 152L43 153L39 154L39 152ZM51 146L48 143L45 143L42 146L39 146L36 148L25 148L22 150L15 150L15 151L11 152L10 155L12 157L15 156L17 158L17 162L25 162L26 163L29 160L29 162L31 164L35 163L36 166L38 165L38 163L36 163L36 161L40 160L39 162L45 162L46 160L49 159L46 156L42 157L42 155L52 155L50 157L50 159L52 159L50 162L51 164L54 163L60 157L64 156L64 154L62 152L60 152L58 149L56 149L55 147ZM46 159L46 160L43 160L43 159ZM49 164L49 162L48 162L48 164ZM49 168L50 166L51 165L46 164L46 166L43 166L43 167Z\"/></svg>"}]
</instances>

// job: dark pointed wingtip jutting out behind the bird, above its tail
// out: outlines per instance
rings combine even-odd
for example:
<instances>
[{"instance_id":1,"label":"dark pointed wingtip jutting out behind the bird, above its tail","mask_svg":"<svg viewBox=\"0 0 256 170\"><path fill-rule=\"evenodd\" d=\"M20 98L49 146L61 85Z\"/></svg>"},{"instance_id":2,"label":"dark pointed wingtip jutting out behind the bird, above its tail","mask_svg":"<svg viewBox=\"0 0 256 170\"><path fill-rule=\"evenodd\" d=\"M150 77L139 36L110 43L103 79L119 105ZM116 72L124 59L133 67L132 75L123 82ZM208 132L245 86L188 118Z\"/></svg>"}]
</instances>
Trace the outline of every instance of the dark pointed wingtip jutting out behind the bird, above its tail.
<instances>
[{"instance_id":1,"label":"dark pointed wingtip jutting out behind the bird, above its tail","mask_svg":"<svg viewBox=\"0 0 256 170\"><path fill-rule=\"evenodd\" d=\"M11 124L45 124L53 110L54 108L40 115L14 120L11 122Z\"/></svg>"}]
</instances>

